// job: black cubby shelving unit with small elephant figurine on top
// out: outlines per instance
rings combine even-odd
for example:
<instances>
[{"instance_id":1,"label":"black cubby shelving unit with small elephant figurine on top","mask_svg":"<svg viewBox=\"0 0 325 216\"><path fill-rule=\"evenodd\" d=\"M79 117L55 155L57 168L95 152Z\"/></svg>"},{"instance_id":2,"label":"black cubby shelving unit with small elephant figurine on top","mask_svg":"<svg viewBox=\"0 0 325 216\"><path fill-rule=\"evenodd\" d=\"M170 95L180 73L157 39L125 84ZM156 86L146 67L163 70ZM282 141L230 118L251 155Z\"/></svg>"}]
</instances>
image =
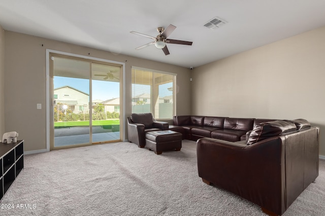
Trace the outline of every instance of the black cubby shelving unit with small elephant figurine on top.
<instances>
[{"instance_id":1,"label":"black cubby shelving unit with small elephant figurine on top","mask_svg":"<svg viewBox=\"0 0 325 216\"><path fill-rule=\"evenodd\" d=\"M24 168L24 141L0 142L0 200Z\"/></svg>"}]
</instances>

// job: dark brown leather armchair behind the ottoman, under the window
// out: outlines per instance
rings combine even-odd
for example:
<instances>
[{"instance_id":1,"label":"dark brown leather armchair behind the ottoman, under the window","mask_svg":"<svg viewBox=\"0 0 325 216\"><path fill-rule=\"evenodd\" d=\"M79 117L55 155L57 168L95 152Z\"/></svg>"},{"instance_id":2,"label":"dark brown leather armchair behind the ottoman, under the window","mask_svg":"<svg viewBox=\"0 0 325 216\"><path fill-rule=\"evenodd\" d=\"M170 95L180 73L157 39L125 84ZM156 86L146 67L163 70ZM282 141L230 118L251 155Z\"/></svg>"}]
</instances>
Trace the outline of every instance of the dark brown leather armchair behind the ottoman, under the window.
<instances>
[{"instance_id":1,"label":"dark brown leather armchair behind the ottoman, under the window","mask_svg":"<svg viewBox=\"0 0 325 216\"><path fill-rule=\"evenodd\" d=\"M168 127L167 122L156 121L151 113L133 113L131 117L127 117L127 139L143 148L146 145L147 132L165 131Z\"/></svg>"}]
</instances>

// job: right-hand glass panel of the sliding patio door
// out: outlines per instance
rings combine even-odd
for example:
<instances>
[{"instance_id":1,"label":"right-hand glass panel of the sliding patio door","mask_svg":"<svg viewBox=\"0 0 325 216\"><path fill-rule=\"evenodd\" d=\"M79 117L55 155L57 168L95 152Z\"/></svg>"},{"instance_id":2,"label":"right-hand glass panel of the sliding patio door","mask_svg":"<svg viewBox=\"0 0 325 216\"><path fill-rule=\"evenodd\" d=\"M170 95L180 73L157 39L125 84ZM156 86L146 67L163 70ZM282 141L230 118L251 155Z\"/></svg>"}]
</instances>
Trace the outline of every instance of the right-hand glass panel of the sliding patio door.
<instances>
[{"instance_id":1,"label":"right-hand glass panel of the sliding patio door","mask_svg":"<svg viewBox=\"0 0 325 216\"><path fill-rule=\"evenodd\" d=\"M121 67L92 63L91 69L92 142L120 140Z\"/></svg>"}]
</instances>

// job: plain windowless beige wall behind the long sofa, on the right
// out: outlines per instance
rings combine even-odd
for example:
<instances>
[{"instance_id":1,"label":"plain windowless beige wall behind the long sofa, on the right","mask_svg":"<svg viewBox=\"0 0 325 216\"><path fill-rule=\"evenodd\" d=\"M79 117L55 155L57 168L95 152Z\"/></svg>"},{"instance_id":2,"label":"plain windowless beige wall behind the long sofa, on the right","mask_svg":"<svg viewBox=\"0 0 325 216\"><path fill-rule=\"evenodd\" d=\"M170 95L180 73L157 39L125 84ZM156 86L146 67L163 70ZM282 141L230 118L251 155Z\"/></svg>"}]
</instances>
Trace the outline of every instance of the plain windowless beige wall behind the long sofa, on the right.
<instances>
[{"instance_id":1,"label":"plain windowless beige wall behind the long sofa, on the right","mask_svg":"<svg viewBox=\"0 0 325 216\"><path fill-rule=\"evenodd\" d=\"M325 155L325 27L194 68L192 78L192 114L305 118L320 127Z\"/></svg>"}]
</instances>

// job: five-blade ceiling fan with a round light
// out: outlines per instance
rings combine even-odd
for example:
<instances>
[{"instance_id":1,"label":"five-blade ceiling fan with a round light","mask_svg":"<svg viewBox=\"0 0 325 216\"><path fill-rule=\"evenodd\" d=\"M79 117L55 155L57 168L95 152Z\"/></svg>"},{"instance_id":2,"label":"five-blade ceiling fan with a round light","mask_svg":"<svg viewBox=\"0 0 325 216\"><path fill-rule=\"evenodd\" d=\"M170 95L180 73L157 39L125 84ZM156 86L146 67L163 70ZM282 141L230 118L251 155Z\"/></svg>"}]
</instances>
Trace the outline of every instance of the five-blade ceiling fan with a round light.
<instances>
[{"instance_id":1,"label":"five-blade ceiling fan with a round light","mask_svg":"<svg viewBox=\"0 0 325 216\"><path fill-rule=\"evenodd\" d=\"M165 55L169 55L169 51L168 48L166 46L166 43L168 44L180 44L180 45L192 45L191 41L185 41L185 40L175 40L175 39L169 39L167 38L174 30L175 30L176 26L174 25L169 25L166 29L164 27L158 27L157 31L159 32L159 34L156 37L147 35L147 34L142 34L136 31L131 31L131 33L134 34L138 34L141 36L145 36L145 37L149 37L151 39L153 39L154 41L149 42L148 44L145 44L141 47L136 48L136 50L140 50L142 48L145 47L149 47L151 45L155 45L156 48L158 49L163 49Z\"/></svg>"}]
</instances>

